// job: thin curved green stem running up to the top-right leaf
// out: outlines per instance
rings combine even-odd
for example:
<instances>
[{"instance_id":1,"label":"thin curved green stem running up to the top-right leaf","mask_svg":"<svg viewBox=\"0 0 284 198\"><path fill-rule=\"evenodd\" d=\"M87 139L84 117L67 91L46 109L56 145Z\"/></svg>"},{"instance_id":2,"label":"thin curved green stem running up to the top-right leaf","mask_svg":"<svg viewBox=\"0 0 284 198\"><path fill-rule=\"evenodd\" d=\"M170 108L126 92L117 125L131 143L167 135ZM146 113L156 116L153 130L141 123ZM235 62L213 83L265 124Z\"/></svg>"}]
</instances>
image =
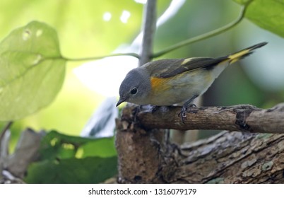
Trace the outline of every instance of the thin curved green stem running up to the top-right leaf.
<instances>
[{"instance_id":1,"label":"thin curved green stem running up to the top-right leaf","mask_svg":"<svg viewBox=\"0 0 284 198\"><path fill-rule=\"evenodd\" d=\"M175 45L172 45L170 47L167 47L165 50L162 50L160 52L157 52L157 53L154 53L152 58L155 58L155 57L160 57L162 56L163 54L166 54L168 52L172 52L173 50L177 50L178 48L180 47L184 47L185 45L189 45L191 43L194 43L194 42L197 42L199 40L204 40L208 37L213 37L215 35L218 35L220 33L223 33L225 32L226 30L229 30L230 28L233 28L235 25L237 25L239 22L242 21L242 19L244 18L244 14L247 10L247 6L251 3L252 1L249 1L247 4L245 4L243 7L242 7L242 11L241 13L239 14L239 17L233 21L232 23L229 23L221 28L218 28L218 29L215 29L215 30L212 30L211 32L208 32L208 33L205 33L203 35L198 35L196 37L192 37L192 38L189 38L187 40L184 40L182 42L179 42Z\"/></svg>"}]
</instances>

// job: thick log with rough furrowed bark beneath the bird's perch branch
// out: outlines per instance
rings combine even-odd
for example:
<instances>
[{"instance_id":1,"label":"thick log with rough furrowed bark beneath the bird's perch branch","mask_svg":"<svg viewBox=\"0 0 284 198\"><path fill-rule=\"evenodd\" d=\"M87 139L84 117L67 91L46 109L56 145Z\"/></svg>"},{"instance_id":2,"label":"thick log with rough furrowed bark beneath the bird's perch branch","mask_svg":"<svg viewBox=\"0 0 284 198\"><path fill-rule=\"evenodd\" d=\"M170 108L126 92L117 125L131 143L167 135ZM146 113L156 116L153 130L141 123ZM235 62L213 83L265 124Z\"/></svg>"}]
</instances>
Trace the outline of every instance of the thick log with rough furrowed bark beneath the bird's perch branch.
<instances>
[{"instance_id":1,"label":"thick log with rough furrowed bark beneath the bird's perch branch","mask_svg":"<svg viewBox=\"0 0 284 198\"><path fill-rule=\"evenodd\" d=\"M166 182L283 183L284 135L222 132L182 146L172 161Z\"/></svg>"}]
</instances>

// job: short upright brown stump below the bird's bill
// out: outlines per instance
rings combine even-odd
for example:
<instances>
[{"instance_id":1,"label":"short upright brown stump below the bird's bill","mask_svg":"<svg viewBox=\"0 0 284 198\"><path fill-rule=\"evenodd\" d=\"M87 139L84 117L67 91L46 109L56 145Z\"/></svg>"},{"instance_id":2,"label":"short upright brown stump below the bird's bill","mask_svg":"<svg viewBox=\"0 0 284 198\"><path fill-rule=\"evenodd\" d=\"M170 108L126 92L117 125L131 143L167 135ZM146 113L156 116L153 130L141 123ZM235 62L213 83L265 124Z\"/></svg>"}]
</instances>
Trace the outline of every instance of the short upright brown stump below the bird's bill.
<instances>
[{"instance_id":1,"label":"short upright brown stump below the bird's bill","mask_svg":"<svg viewBox=\"0 0 284 198\"><path fill-rule=\"evenodd\" d=\"M146 131L134 121L135 108L124 108L122 120L117 120L116 147L119 158L118 182L160 182L156 174L162 165L160 145L163 130ZM134 160L134 161L132 161Z\"/></svg>"}]
</instances>

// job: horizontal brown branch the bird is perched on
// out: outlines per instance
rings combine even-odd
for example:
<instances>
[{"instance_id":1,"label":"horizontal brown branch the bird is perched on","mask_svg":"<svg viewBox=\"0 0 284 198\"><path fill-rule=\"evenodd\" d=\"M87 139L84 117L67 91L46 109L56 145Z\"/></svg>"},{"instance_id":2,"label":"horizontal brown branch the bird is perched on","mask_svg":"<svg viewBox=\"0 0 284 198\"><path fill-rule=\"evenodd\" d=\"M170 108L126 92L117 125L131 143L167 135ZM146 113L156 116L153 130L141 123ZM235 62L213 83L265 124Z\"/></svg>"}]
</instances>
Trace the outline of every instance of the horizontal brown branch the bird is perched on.
<instances>
[{"instance_id":1,"label":"horizontal brown branch the bird is perched on","mask_svg":"<svg viewBox=\"0 0 284 198\"><path fill-rule=\"evenodd\" d=\"M132 106L133 108L133 106ZM182 122L181 107L147 107L136 112L136 120L147 129L217 129L239 132L283 133L284 103L268 110L252 105L230 107L189 107Z\"/></svg>"}]
</instances>

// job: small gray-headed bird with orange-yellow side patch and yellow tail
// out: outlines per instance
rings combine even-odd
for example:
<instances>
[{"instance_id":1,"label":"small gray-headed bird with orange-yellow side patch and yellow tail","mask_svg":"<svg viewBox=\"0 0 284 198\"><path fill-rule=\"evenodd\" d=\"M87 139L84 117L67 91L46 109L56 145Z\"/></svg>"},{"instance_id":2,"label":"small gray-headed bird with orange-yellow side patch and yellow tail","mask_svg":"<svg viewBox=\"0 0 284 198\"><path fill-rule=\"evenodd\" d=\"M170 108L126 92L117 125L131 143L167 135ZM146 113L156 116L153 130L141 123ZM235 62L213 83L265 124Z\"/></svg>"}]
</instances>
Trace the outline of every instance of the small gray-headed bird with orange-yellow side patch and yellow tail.
<instances>
[{"instance_id":1,"label":"small gray-headed bird with orange-yellow side patch and yellow tail","mask_svg":"<svg viewBox=\"0 0 284 198\"><path fill-rule=\"evenodd\" d=\"M117 106L123 102L155 106L183 103L180 113L183 118L190 103L206 92L229 64L247 57L253 50L266 44L261 42L216 59L194 57L148 62L126 75L119 88Z\"/></svg>"}]
</instances>

